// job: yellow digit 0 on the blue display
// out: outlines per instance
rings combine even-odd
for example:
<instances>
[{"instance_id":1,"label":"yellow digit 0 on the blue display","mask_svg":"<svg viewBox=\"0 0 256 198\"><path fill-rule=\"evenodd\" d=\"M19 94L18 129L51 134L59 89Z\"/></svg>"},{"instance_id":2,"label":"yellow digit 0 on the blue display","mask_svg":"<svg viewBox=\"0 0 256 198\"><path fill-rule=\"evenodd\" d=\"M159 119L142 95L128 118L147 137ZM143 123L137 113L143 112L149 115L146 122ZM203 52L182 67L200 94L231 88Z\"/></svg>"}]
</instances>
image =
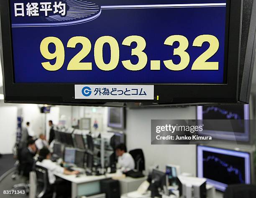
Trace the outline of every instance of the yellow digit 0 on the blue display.
<instances>
[{"instance_id":1,"label":"yellow digit 0 on the blue display","mask_svg":"<svg viewBox=\"0 0 256 198\"><path fill-rule=\"evenodd\" d=\"M103 46L105 43L110 45L110 62L106 64L103 60ZM111 71L118 66L119 46L112 36L102 36L98 38L94 47L94 57L97 67L103 71Z\"/></svg>"}]
</instances>

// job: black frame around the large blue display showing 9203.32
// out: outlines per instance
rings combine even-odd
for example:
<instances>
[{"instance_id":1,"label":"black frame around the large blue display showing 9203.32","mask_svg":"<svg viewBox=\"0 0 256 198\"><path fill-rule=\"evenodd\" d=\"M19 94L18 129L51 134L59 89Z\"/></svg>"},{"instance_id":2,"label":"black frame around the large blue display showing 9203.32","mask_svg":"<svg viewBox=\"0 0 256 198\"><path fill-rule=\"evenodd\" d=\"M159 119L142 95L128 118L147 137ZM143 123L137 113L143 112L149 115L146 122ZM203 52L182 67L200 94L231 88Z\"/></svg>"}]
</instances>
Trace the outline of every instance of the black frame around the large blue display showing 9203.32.
<instances>
[{"instance_id":1,"label":"black frame around the large blue display showing 9203.32","mask_svg":"<svg viewBox=\"0 0 256 198\"><path fill-rule=\"evenodd\" d=\"M1 0L1 61L6 103L102 105L105 102L152 102L159 104L203 104L238 102L243 0L227 0L225 84L154 84L154 100L75 99L74 84L14 83L10 0ZM225 74L225 72L224 72ZM224 78L225 79L225 78ZM88 84L90 85L90 84ZM157 97L159 96L159 97ZM159 98L159 99L157 99Z\"/></svg>"}]
</instances>

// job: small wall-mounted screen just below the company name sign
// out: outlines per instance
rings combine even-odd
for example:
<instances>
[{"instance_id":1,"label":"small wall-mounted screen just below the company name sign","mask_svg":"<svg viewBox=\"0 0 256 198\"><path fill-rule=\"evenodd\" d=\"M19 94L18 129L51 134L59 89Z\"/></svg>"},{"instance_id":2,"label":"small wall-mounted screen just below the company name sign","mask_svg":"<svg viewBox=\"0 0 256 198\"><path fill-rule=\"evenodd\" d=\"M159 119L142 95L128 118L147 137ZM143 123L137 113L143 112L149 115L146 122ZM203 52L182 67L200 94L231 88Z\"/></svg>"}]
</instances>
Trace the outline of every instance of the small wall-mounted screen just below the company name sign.
<instances>
[{"instance_id":1,"label":"small wall-mounted screen just below the company name sign","mask_svg":"<svg viewBox=\"0 0 256 198\"><path fill-rule=\"evenodd\" d=\"M125 109L118 107L108 107L108 127L125 128Z\"/></svg>"}]
</instances>

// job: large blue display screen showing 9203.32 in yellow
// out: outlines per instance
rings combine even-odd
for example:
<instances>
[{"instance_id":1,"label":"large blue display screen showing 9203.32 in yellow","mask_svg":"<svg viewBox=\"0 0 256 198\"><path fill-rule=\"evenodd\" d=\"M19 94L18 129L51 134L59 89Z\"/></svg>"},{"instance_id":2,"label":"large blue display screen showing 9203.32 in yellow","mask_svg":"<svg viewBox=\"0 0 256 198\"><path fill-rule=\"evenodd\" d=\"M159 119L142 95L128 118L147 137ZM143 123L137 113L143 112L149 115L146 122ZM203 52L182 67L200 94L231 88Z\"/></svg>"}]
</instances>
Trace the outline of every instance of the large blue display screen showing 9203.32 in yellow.
<instances>
[{"instance_id":1,"label":"large blue display screen showing 9203.32 in yellow","mask_svg":"<svg viewBox=\"0 0 256 198\"><path fill-rule=\"evenodd\" d=\"M15 83L224 84L226 0L10 0Z\"/></svg>"}]
</instances>

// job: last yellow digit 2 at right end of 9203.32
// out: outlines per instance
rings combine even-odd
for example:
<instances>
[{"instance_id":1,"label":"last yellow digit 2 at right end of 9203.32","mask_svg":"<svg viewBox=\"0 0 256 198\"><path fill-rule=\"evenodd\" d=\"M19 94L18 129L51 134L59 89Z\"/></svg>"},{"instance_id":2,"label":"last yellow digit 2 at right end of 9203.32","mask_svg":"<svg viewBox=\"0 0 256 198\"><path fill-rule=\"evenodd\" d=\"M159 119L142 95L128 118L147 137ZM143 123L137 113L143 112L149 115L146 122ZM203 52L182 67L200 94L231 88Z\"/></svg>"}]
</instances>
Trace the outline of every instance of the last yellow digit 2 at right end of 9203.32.
<instances>
[{"instance_id":1,"label":"last yellow digit 2 at right end of 9203.32","mask_svg":"<svg viewBox=\"0 0 256 198\"><path fill-rule=\"evenodd\" d=\"M195 38L193 46L202 47L204 42L210 43L210 47L199 56L192 65L192 70L218 70L219 62L206 62L219 49L218 38L212 35L200 35Z\"/></svg>"}]
</instances>

